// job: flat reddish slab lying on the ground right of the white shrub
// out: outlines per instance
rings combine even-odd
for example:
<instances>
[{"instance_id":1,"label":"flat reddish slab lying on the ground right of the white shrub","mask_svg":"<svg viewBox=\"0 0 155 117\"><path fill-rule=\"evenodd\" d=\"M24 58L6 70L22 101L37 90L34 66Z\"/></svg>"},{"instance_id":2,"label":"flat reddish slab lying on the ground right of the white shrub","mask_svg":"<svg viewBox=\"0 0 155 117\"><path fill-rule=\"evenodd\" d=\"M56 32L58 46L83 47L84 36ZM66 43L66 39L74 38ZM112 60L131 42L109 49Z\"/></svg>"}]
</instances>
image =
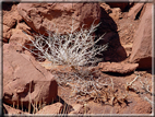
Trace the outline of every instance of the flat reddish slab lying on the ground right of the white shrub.
<instances>
[{"instance_id":1,"label":"flat reddish slab lying on the ground right of the white shrub","mask_svg":"<svg viewBox=\"0 0 155 117\"><path fill-rule=\"evenodd\" d=\"M104 72L130 73L139 67L138 63L99 62L98 68Z\"/></svg>"}]
</instances>

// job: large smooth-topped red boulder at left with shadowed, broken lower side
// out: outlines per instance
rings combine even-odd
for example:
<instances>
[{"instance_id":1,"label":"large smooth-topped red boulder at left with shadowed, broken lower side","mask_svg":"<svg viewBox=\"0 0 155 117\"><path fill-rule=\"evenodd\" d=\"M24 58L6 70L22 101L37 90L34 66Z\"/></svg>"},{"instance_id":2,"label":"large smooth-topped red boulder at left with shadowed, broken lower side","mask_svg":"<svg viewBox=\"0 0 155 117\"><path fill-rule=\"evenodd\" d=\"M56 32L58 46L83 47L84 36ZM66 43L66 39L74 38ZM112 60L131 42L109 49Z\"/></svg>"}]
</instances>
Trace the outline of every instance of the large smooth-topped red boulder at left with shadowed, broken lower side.
<instances>
[{"instance_id":1,"label":"large smooth-topped red boulder at left with shadowed, broken lower side","mask_svg":"<svg viewBox=\"0 0 155 117\"><path fill-rule=\"evenodd\" d=\"M34 58L20 55L13 47L3 47L3 102L27 107L31 103L51 103L58 85L53 75Z\"/></svg>"}]
</instances>

